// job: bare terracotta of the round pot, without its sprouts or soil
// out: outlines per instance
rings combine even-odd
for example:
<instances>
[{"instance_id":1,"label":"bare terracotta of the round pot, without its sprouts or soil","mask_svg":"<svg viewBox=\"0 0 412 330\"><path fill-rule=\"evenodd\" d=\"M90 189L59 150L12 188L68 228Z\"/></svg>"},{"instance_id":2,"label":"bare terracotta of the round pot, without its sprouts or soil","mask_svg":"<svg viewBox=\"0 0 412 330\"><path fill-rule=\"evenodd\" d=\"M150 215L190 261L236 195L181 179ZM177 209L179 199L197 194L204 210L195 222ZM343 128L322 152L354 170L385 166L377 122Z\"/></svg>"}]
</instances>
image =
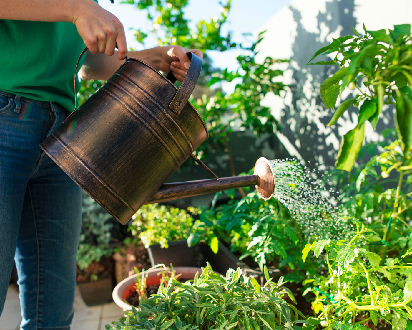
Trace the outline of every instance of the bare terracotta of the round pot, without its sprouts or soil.
<instances>
[{"instance_id":1,"label":"bare terracotta of the round pot, without its sprouts or soil","mask_svg":"<svg viewBox=\"0 0 412 330\"><path fill-rule=\"evenodd\" d=\"M162 279L162 275L159 274L159 272L162 269L153 269L147 273L147 279L146 279L146 284L147 286L151 285L159 285L160 281ZM176 274L182 274L180 277L184 279L192 279L194 278L194 275L199 272L199 275L202 273L201 268L197 267L174 267L174 270L176 271ZM143 272L140 273L140 275L143 275ZM136 274L129 276L128 278L125 278L123 281L121 281L119 284L115 286L115 289L113 290L112 297L113 301L122 308L124 311L128 311L131 309L131 306L125 302L134 291L136 291Z\"/></svg>"}]
</instances>

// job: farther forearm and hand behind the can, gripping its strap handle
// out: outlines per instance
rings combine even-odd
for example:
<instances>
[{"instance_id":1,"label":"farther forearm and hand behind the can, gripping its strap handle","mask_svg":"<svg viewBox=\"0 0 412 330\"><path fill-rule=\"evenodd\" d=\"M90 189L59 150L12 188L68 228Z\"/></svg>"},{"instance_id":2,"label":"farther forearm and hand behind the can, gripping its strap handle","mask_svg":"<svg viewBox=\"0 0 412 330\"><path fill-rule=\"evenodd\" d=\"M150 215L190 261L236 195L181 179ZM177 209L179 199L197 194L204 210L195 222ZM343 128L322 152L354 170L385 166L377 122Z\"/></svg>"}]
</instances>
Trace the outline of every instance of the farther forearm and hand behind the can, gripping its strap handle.
<instances>
[{"instance_id":1,"label":"farther forearm and hand behind the can, gripping its strap handle","mask_svg":"<svg viewBox=\"0 0 412 330\"><path fill-rule=\"evenodd\" d=\"M128 56L146 62L156 70L161 70L165 73L173 71L176 79L182 82L190 65L189 58L186 55L187 52L193 52L195 55L203 58L203 54L199 50L188 50L176 45L129 51ZM84 64L79 71L79 76L85 80L107 80L122 64L123 61L117 60L116 57L106 56L105 54L94 55L87 52Z\"/></svg>"}]
</instances>

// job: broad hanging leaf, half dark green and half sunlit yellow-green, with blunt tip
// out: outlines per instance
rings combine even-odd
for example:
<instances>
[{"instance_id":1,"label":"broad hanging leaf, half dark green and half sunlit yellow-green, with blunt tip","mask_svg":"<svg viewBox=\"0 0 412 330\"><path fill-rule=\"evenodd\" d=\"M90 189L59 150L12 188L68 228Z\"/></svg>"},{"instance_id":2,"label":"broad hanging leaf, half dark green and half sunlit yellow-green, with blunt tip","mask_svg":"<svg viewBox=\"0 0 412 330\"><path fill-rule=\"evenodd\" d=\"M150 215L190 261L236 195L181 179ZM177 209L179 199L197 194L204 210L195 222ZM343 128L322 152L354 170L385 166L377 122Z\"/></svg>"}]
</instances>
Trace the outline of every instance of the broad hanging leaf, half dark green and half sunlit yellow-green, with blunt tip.
<instances>
[{"instance_id":1,"label":"broad hanging leaf, half dark green and half sunlit yellow-green, with blunt tip","mask_svg":"<svg viewBox=\"0 0 412 330\"><path fill-rule=\"evenodd\" d=\"M361 150L364 136L365 124L356 126L344 135L335 163L338 170L351 171Z\"/></svg>"}]
</instances>

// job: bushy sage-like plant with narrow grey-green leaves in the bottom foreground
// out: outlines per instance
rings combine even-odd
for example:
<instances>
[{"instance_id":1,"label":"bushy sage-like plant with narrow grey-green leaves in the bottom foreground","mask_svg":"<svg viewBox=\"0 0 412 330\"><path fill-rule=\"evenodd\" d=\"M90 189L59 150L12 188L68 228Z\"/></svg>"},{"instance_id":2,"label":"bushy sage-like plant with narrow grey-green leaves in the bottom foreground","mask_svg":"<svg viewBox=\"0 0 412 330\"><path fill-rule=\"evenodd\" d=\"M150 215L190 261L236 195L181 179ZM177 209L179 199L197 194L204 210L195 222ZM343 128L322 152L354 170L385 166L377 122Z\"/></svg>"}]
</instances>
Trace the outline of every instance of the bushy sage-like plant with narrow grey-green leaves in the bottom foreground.
<instances>
[{"instance_id":1,"label":"bushy sage-like plant with narrow grey-green leaves in the bottom foreground","mask_svg":"<svg viewBox=\"0 0 412 330\"><path fill-rule=\"evenodd\" d=\"M260 286L238 268L225 276L208 265L193 281L171 278L155 295L142 299L139 308L106 325L107 330L132 329L302 329L310 322L293 306L293 295L283 287L283 278Z\"/></svg>"}]
</instances>

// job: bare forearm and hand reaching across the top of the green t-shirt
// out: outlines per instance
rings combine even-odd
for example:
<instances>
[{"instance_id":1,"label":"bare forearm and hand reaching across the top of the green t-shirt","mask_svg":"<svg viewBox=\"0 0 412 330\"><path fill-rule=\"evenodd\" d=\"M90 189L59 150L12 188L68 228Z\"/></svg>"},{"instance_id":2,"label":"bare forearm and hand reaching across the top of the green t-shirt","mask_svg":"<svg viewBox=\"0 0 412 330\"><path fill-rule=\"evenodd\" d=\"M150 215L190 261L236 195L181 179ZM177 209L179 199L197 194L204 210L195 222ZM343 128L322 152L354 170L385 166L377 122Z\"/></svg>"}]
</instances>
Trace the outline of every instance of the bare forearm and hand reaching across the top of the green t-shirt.
<instances>
[{"instance_id":1,"label":"bare forearm and hand reaching across the top of the green t-shirt","mask_svg":"<svg viewBox=\"0 0 412 330\"><path fill-rule=\"evenodd\" d=\"M92 54L127 56L126 36L119 19L93 0L0 0L0 19L67 21Z\"/></svg>"}]
</instances>

